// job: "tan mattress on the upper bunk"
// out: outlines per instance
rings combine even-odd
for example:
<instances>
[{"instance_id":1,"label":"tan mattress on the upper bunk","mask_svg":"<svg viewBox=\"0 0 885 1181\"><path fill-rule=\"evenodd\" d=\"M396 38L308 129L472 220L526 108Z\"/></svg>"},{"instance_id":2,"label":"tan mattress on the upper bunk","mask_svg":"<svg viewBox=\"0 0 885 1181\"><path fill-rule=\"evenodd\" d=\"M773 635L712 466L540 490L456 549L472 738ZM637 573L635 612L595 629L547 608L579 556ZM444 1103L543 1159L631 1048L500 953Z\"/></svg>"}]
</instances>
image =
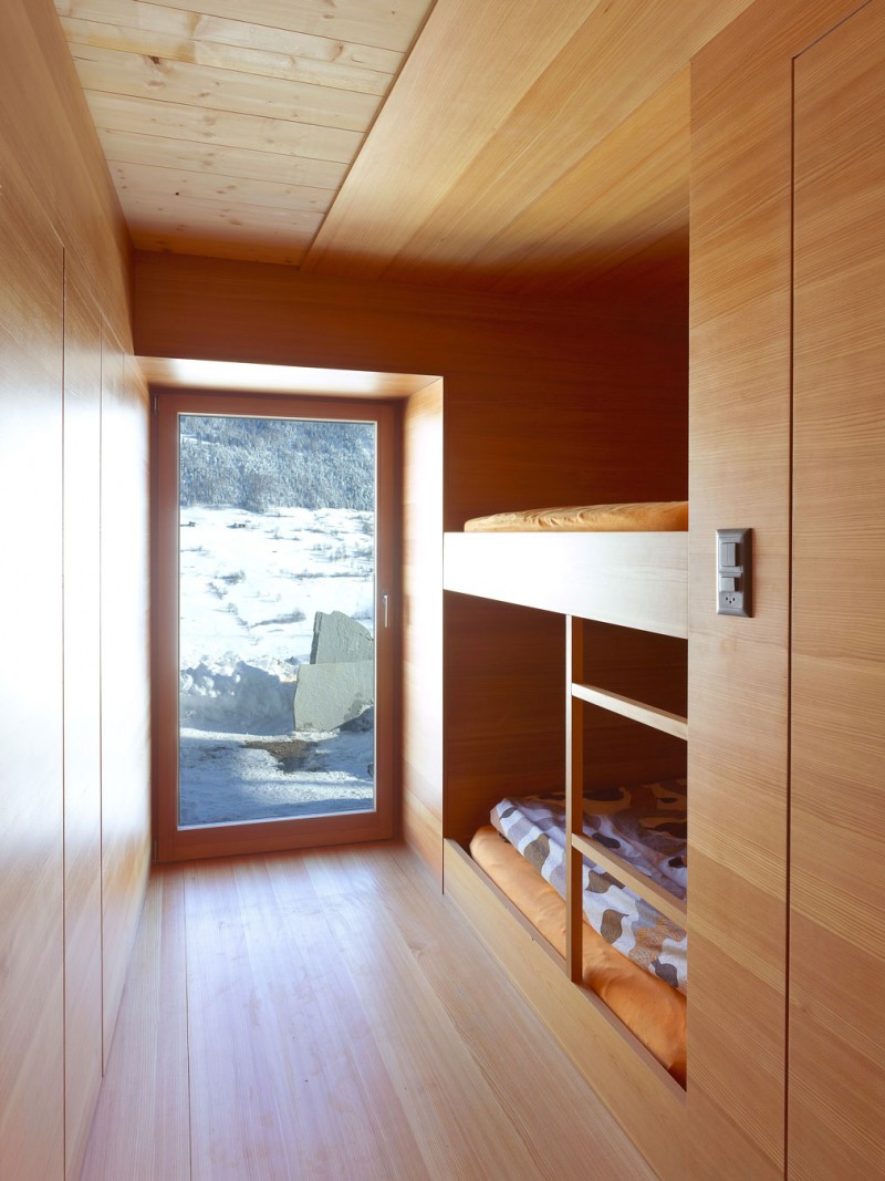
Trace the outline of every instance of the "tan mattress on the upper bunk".
<instances>
[{"instance_id":1,"label":"tan mattress on the upper bunk","mask_svg":"<svg viewBox=\"0 0 885 1181\"><path fill-rule=\"evenodd\" d=\"M524 509L464 522L465 533L681 533L686 529L688 501Z\"/></svg>"}]
</instances>

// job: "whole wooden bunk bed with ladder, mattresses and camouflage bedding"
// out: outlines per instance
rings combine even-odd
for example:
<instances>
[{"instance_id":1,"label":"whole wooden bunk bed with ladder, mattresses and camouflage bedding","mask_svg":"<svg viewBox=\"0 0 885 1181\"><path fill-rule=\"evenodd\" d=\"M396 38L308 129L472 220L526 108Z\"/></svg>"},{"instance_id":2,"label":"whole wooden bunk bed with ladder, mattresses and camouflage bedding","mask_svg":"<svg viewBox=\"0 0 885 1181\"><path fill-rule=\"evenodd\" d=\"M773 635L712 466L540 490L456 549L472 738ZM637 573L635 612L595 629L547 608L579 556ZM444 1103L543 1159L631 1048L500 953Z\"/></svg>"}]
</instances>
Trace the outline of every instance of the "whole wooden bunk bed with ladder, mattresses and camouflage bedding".
<instances>
[{"instance_id":1,"label":"whole wooden bunk bed with ladder, mattresses and camouflage bedding","mask_svg":"<svg viewBox=\"0 0 885 1181\"><path fill-rule=\"evenodd\" d=\"M444 541L446 590L565 616L565 790L498 801L470 840L447 840L447 872L461 877L461 900L472 895L487 914L494 896L499 918L529 931L609 1026L614 1014L628 1048L680 1087L686 781L588 787L584 715L630 719L683 751L688 722L684 707L590 683L585 621L684 641L687 528L684 502L577 505L473 518Z\"/></svg>"}]
</instances>

